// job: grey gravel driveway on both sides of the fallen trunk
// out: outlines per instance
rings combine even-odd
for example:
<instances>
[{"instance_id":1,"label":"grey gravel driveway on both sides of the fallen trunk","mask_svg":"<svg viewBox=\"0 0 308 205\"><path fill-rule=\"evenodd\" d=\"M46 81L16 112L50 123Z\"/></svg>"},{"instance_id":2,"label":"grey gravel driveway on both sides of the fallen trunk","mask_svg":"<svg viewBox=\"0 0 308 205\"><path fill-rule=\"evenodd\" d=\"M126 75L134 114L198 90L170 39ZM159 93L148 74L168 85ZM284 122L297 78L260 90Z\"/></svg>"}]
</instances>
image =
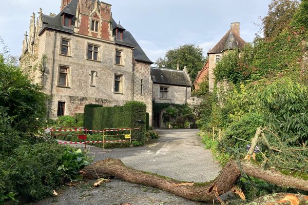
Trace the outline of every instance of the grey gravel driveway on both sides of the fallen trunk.
<instances>
[{"instance_id":1,"label":"grey gravel driveway on both sides of the fallen trunk","mask_svg":"<svg viewBox=\"0 0 308 205\"><path fill-rule=\"evenodd\" d=\"M105 158L121 159L128 167L157 173L182 181L204 182L218 176L221 168L205 150L197 129L155 130L158 140L143 147L102 150L90 147L94 161ZM112 179L100 188L92 188L93 181L76 187L57 190L59 196L33 204L207 204L186 200L171 193L151 187ZM213 204L213 203L211 203Z\"/></svg>"}]
</instances>

